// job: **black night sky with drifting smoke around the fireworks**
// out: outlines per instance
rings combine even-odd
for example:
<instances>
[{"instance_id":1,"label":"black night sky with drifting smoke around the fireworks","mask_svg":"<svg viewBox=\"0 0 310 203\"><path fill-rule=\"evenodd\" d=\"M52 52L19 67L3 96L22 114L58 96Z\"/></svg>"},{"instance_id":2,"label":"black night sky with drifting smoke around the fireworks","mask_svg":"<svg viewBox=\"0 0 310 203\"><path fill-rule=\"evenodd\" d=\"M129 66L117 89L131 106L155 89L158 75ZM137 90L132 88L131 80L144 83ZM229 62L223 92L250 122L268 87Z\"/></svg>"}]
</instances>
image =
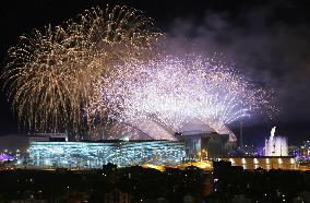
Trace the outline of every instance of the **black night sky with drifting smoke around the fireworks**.
<instances>
[{"instance_id":1,"label":"black night sky with drifting smoke around the fireworks","mask_svg":"<svg viewBox=\"0 0 310 203\"><path fill-rule=\"evenodd\" d=\"M133 7L152 17L176 49L220 53L253 82L275 91L279 112L272 120L247 119L245 143L262 145L271 127L277 126L289 144L297 144L310 139L310 7L306 2L11 0L0 7L1 70L9 47L32 28L61 24L96 5ZM0 136L23 133L3 92L0 112ZM231 128L239 133L238 123Z\"/></svg>"}]
</instances>

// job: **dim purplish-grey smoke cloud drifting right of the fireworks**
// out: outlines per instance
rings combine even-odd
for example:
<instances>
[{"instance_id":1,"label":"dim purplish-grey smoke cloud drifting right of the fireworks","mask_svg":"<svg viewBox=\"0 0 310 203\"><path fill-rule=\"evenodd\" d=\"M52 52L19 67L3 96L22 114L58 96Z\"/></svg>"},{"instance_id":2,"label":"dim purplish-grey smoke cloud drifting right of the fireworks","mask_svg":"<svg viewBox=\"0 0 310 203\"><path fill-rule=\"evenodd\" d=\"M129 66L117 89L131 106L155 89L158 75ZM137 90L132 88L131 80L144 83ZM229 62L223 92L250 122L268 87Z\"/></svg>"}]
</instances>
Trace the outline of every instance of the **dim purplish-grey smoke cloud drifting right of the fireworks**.
<instances>
[{"instance_id":1,"label":"dim purplish-grey smoke cloud drifting right of the fireworks","mask_svg":"<svg viewBox=\"0 0 310 203\"><path fill-rule=\"evenodd\" d=\"M254 83L275 91L279 112L270 122L309 122L310 28L303 21L277 19L283 7L291 5L177 17L167 29L168 49L223 56Z\"/></svg>"}]
</instances>

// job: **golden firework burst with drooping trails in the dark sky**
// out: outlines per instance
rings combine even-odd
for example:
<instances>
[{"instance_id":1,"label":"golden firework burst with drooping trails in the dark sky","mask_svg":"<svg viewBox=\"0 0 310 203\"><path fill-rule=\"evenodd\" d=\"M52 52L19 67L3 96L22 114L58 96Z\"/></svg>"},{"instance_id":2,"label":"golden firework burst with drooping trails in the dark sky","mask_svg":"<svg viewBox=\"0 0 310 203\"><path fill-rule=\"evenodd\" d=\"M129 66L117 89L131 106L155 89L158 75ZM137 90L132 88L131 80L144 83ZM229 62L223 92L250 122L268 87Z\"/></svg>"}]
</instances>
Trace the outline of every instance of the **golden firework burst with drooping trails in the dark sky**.
<instances>
[{"instance_id":1,"label":"golden firework burst with drooping trails in the dark sky","mask_svg":"<svg viewBox=\"0 0 310 203\"><path fill-rule=\"evenodd\" d=\"M21 36L1 76L20 121L37 131L79 129L96 87L109 85L102 76L111 82L115 64L145 58L158 36L150 19L126 7L92 9Z\"/></svg>"}]
</instances>

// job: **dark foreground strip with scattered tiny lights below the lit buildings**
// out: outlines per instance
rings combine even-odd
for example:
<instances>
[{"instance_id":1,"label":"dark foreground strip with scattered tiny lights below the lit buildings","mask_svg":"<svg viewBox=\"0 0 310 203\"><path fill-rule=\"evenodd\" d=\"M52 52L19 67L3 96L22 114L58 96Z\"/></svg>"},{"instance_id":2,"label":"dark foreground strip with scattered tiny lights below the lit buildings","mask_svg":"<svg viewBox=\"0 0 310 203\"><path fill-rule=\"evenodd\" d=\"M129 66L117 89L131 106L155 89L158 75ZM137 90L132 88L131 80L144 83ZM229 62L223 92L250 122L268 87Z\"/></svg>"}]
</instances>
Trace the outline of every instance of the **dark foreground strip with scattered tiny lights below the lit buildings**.
<instances>
[{"instance_id":1,"label":"dark foreground strip with scattered tiny lights below the lit buildings","mask_svg":"<svg viewBox=\"0 0 310 203\"><path fill-rule=\"evenodd\" d=\"M309 171L245 171L226 163L214 171L15 169L0 171L0 202L310 202Z\"/></svg>"}]
</instances>

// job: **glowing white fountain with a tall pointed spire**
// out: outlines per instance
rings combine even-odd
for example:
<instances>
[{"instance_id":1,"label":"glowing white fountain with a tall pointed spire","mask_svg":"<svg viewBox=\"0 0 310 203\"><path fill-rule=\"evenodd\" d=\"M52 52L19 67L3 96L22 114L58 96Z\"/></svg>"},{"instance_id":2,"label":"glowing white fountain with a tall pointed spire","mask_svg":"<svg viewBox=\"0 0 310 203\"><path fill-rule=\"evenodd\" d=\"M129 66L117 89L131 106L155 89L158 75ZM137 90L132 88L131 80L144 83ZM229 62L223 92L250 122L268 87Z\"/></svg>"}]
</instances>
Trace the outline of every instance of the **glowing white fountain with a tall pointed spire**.
<instances>
[{"instance_id":1,"label":"glowing white fountain with a tall pointed spire","mask_svg":"<svg viewBox=\"0 0 310 203\"><path fill-rule=\"evenodd\" d=\"M271 130L270 140L265 140L265 156L288 156L286 139L274 134L275 127Z\"/></svg>"}]
</instances>

